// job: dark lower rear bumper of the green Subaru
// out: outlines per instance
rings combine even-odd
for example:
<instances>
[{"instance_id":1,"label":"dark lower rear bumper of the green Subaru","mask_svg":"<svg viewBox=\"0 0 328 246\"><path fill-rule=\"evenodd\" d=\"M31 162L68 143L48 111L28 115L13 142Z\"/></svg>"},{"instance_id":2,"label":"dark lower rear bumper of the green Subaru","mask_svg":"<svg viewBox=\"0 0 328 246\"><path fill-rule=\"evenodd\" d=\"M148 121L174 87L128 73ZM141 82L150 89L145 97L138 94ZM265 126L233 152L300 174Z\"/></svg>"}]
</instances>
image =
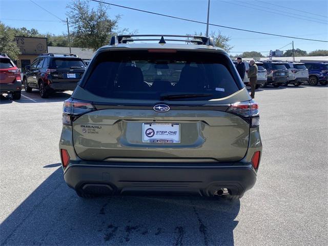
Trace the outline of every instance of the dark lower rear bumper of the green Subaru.
<instances>
[{"instance_id":1,"label":"dark lower rear bumper of the green Subaru","mask_svg":"<svg viewBox=\"0 0 328 246\"><path fill-rule=\"evenodd\" d=\"M73 161L64 178L75 190L122 194L178 192L212 196L227 188L242 195L256 182L251 163L135 163Z\"/></svg>"}]
</instances>

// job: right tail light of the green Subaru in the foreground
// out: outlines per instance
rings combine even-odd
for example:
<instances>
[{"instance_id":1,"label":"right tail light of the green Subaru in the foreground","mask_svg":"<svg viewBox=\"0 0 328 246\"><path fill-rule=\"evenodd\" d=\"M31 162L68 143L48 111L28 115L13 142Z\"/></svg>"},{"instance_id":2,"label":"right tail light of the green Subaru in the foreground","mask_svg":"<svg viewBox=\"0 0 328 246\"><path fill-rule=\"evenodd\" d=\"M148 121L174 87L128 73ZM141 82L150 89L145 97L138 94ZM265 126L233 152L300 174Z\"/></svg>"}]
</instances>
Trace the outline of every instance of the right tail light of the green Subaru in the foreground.
<instances>
[{"instance_id":1,"label":"right tail light of the green Subaru in the foreground","mask_svg":"<svg viewBox=\"0 0 328 246\"><path fill-rule=\"evenodd\" d=\"M227 112L237 114L250 123L251 127L260 125L260 111L254 100L232 104Z\"/></svg>"}]
</instances>

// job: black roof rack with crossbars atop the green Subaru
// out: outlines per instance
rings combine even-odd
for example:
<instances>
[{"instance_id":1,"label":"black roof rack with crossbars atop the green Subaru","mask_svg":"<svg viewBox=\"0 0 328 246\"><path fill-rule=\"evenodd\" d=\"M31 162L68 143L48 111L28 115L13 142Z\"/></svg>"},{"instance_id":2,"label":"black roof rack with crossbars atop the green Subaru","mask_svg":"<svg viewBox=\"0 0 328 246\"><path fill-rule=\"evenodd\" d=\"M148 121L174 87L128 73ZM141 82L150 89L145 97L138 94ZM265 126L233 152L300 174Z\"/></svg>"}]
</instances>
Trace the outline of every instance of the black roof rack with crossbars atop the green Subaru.
<instances>
[{"instance_id":1,"label":"black roof rack with crossbars atop the green Subaru","mask_svg":"<svg viewBox=\"0 0 328 246\"><path fill-rule=\"evenodd\" d=\"M145 38L134 38L145 37ZM150 38L160 37L160 38ZM169 37L169 38L164 38ZM186 37L187 39L174 39L174 37ZM192 38L192 39L190 39ZM158 44L166 44L167 41L186 42L197 45L214 46L212 37L197 36L197 35L159 35L159 34L142 34L142 35L118 35L112 36L110 45L126 44L134 41L159 41Z\"/></svg>"}]
</instances>

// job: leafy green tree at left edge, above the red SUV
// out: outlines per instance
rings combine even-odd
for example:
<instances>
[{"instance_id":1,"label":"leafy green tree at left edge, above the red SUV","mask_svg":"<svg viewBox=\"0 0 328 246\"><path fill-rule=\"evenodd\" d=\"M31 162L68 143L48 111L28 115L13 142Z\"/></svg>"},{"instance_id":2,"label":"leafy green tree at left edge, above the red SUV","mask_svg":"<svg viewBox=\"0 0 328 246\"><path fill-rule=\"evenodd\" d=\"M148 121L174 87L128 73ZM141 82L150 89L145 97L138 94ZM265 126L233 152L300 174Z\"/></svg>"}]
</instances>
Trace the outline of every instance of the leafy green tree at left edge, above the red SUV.
<instances>
[{"instance_id":1,"label":"leafy green tree at left edge, above the red SUV","mask_svg":"<svg viewBox=\"0 0 328 246\"><path fill-rule=\"evenodd\" d=\"M11 59L16 60L20 50L15 42L15 33L0 22L0 53L6 53Z\"/></svg>"}]
</instances>

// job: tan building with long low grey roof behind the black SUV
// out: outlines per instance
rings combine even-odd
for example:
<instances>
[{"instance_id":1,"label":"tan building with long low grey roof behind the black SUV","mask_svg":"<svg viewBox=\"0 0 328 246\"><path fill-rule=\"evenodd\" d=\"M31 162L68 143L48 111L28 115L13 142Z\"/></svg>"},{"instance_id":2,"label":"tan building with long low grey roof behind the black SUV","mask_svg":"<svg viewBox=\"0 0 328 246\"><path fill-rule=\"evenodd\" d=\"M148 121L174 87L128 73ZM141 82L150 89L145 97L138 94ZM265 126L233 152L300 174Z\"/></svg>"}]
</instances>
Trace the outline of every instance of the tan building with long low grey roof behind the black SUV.
<instances>
[{"instance_id":1,"label":"tan building with long low grey roof behind the black SUV","mask_svg":"<svg viewBox=\"0 0 328 246\"><path fill-rule=\"evenodd\" d=\"M48 46L46 37L22 37L15 36L14 42L17 44L20 55L15 61L18 68L24 72L25 66L31 65L33 60L43 53L70 53L69 47ZM72 47L71 53L76 54L82 59L91 59L94 51L92 49L83 49Z\"/></svg>"}]
</instances>

